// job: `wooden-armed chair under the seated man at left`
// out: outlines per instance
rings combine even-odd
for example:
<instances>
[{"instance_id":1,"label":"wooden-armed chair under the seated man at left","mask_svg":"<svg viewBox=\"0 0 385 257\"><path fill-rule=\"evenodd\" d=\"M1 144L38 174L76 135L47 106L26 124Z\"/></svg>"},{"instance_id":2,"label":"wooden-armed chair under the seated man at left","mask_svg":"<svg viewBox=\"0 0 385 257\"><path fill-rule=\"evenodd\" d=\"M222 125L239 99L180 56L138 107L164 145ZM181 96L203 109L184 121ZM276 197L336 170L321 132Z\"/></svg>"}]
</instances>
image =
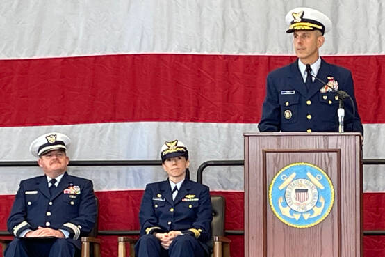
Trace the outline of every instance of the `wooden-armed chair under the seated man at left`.
<instances>
[{"instance_id":1,"label":"wooden-armed chair under the seated man at left","mask_svg":"<svg viewBox=\"0 0 385 257\"><path fill-rule=\"evenodd\" d=\"M95 196L95 201L97 205L97 219L95 221L95 226L92 228L92 231L88 234L88 237L81 237L81 257L101 257L100 254L100 239L97 237L98 229L98 217L99 217L99 200ZM6 251L7 245L11 242L11 239L1 239L0 244L3 247L3 252ZM90 251L90 245L92 244L92 251Z\"/></svg>"}]
</instances>

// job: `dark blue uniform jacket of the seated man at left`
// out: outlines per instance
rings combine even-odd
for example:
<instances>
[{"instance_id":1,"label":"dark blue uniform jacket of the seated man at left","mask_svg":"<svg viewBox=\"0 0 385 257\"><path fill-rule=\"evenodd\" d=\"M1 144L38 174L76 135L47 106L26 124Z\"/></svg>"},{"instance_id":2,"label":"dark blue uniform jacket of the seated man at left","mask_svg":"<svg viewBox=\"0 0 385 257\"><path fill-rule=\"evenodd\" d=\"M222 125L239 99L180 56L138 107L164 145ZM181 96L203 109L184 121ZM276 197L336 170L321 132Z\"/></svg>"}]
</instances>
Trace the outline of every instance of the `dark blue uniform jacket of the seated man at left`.
<instances>
[{"instance_id":1,"label":"dark blue uniform jacket of the seated man at left","mask_svg":"<svg viewBox=\"0 0 385 257\"><path fill-rule=\"evenodd\" d=\"M8 231L19 237L25 229L35 230L38 226L63 229L80 248L79 239L92 230L96 212L91 180L66 172L56 193L50 196L46 176L39 176L20 182L8 218Z\"/></svg>"}]
</instances>

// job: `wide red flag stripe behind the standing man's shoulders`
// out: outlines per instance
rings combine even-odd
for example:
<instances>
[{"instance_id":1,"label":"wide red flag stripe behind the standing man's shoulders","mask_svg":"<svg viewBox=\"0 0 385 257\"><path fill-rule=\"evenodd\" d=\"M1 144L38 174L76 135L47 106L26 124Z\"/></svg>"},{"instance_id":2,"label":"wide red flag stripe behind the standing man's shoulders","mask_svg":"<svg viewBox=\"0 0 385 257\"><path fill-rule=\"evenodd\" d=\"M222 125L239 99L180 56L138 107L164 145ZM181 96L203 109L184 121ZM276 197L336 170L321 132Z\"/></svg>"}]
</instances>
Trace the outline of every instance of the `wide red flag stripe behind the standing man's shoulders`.
<instances>
[{"instance_id":1,"label":"wide red flag stripe behind the standing man's shoulders","mask_svg":"<svg viewBox=\"0 0 385 257\"><path fill-rule=\"evenodd\" d=\"M363 123L385 123L385 56L352 70ZM258 123L268 72L293 56L132 54L0 61L0 126L127 121Z\"/></svg>"}]
</instances>

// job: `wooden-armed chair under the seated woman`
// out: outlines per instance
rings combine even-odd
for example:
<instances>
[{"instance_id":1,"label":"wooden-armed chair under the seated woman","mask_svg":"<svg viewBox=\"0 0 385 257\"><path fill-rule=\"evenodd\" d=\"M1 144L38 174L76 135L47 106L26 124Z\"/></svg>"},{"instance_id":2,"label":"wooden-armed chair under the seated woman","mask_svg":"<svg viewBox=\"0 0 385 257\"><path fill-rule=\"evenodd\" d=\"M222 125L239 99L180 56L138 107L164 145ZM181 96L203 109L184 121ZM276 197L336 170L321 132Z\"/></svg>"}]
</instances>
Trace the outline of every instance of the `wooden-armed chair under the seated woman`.
<instances>
[{"instance_id":1,"label":"wooden-armed chair under the seated woman","mask_svg":"<svg viewBox=\"0 0 385 257\"><path fill-rule=\"evenodd\" d=\"M213 221L211 221L211 234L213 239L211 247L211 257L230 257L229 238L224 237L224 210L226 201L223 196L211 196L211 205L213 206ZM126 242L130 245L130 257L135 257L134 246L137 239L131 237L117 237L117 256L126 257Z\"/></svg>"}]
</instances>

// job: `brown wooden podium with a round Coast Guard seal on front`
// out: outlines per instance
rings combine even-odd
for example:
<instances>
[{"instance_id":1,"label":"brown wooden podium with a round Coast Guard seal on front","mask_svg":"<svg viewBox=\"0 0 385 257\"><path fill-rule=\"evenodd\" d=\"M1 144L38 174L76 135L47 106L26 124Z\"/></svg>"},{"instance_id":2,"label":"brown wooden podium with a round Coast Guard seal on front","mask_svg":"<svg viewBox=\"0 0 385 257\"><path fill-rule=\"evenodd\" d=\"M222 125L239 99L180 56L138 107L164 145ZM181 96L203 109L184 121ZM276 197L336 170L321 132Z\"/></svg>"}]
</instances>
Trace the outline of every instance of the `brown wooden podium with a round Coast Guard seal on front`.
<instances>
[{"instance_id":1,"label":"brown wooden podium with a round Coast Guard seal on front","mask_svg":"<svg viewBox=\"0 0 385 257\"><path fill-rule=\"evenodd\" d=\"M277 132L246 133L244 136L245 257L362 256L361 134ZM330 205L329 213L325 214L318 224L306 228L288 225L285 222L288 220L290 224L291 220L296 221L294 218L288 218L289 216L306 222L305 218L312 215L313 209L306 212L306 216L293 210L286 212L285 216L281 215L284 212L280 213L279 208L275 210L272 207L272 204L277 206L279 204L284 206L282 210L288 209L286 203L280 201L284 196L293 197L299 203L309 201L306 199L309 198L310 191L307 194L307 189L298 187L295 192L293 190L288 192L289 186L286 187L286 193L282 193L283 197L274 198L276 192L273 191L275 188L272 185L273 180L282 180L284 184L284 181L288 180L288 175L295 172L287 174L280 172L288 171L285 167L293 164L309 164L310 168L314 166L314 169L325 171L316 176L310 174L309 179L300 181L307 183L313 181L315 177L321 179L328 176L334 189L334 197L330 197L333 198L333 203ZM292 181L294 180L295 178ZM313 182L315 185L318 183ZM309 184L313 185L311 182ZM284 186L286 185L281 185L280 189ZM278 194L281 192L277 189L277 197ZM316 197L316 194L317 192L312 196ZM317 204L322 206L322 203Z\"/></svg>"}]
</instances>

